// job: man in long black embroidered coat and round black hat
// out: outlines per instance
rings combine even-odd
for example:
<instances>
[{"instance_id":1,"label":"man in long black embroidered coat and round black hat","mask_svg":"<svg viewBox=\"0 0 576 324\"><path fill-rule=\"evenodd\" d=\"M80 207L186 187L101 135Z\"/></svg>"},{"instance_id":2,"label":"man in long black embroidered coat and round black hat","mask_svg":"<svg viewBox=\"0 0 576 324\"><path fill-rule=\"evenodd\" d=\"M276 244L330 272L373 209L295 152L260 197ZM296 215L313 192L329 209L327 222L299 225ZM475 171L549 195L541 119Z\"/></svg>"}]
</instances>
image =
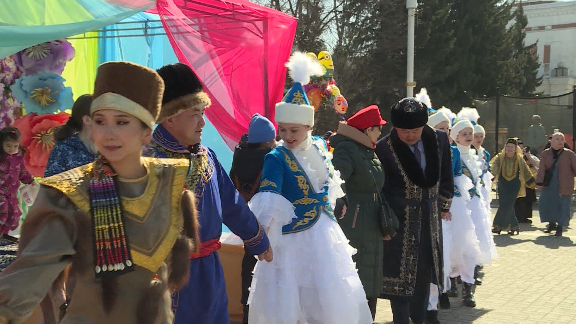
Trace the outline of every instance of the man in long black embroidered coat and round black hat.
<instances>
[{"instance_id":1,"label":"man in long black embroidered coat and round black hat","mask_svg":"<svg viewBox=\"0 0 576 324\"><path fill-rule=\"evenodd\" d=\"M426 125L428 108L414 98L392 107L395 128L378 141L376 155L386 180L382 190L400 228L384 241L382 297L394 323L422 324L430 282L442 291L440 218L450 218L454 194L448 136ZM440 210L438 210L440 209Z\"/></svg>"}]
</instances>

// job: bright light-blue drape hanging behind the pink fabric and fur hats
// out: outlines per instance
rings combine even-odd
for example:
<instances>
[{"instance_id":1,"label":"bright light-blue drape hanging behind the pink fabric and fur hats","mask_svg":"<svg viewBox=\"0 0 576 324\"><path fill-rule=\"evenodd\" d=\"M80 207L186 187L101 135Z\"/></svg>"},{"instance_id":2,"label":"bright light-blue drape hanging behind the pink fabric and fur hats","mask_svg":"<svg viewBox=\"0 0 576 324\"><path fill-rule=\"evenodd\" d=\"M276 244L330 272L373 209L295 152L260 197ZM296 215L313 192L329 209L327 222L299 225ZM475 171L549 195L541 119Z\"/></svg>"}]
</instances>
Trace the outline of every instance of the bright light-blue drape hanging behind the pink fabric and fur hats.
<instances>
[{"instance_id":1,"label":"bright light-blue drape hanging behind the pink fabric and fur hats","mask_svg":"<svg viewBox=\"0 0 576 324\"><path fill-rule=\"evenodd\" d=\"M147 27L146 35L144 27ZM106 31L101 32L101 36L105 37L98 40L99 63L130 61L158 69L166 64L178 62L168 37L163 35L164 29L160 17L156 14L138 13L105 29ZM126 31L126 29L134 30ZM154 36L154 34L162 35ZM233 152L209 120L206 120L204 126L202 144L214 150L222 166L229 172Z\"/></svg>"}]
</instances>

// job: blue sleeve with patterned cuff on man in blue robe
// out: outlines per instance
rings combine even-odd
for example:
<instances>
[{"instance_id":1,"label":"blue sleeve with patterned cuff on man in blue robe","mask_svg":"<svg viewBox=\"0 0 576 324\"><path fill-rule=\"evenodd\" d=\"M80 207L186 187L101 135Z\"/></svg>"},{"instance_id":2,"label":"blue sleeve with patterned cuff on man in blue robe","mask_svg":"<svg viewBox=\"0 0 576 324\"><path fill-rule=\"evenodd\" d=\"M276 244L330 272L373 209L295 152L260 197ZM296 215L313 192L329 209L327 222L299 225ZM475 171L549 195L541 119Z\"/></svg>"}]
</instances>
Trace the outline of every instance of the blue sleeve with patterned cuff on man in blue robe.
<instances>
[{"instance_id":1,"label":"blue sleeve with patterned cuff on man in blue robe","mask_svg":"<svg viewBox=\"0 0 576 324\"><path fill-rule=\"evenodd\" d=\"M230 176L219 163L213 150L209 149L218 176L218 190L222 207L222 221L234 234L244 241L244 247L252 255L266 252L270 242L264 229L238 193Z\"/></svg>"}]
</instances>

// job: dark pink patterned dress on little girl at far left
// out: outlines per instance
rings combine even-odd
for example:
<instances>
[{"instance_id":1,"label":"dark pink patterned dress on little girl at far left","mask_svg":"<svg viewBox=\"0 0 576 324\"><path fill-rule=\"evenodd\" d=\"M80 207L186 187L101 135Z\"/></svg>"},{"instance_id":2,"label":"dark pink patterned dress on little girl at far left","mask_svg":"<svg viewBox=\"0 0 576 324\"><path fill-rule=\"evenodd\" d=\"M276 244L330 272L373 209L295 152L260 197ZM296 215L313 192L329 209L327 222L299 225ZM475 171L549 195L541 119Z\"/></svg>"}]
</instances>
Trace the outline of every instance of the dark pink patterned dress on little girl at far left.
<instances>
[{"instance_id":1,"label":"dark pink patterned dress on little girl at far left","mask_svg":"<svg viewBox=\"0 0 576 324\"><path fill-rule=\"evenodd\" d=\"M26 170L20 153L6 155L0 159L0 233L14 231L20 224L20 183L32 183L34 177Z\"/></svg>"}]
</instances>

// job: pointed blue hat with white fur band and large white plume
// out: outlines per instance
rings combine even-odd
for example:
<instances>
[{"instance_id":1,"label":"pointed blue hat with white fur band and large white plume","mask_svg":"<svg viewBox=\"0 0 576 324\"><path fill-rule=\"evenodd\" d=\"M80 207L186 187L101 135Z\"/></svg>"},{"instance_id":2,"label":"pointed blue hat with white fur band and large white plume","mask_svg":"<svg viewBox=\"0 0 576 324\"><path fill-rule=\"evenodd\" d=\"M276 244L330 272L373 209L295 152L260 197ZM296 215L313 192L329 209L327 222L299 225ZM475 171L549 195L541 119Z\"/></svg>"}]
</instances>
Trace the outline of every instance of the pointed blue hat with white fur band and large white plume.
<instances>
[{"instance_id":1,"label":"pointed blue hat with white fur band and large white plume","mask_svg":"<svg viewBox=\"0 0 576 324\"><path fill-rule=\"evenodd\" d=\"M310 82L310 76L324 74L322 66L305 53L294 52L290 56L290 61L286 63L286 67L294 83L284 99L276 104L274 121L312 127L314 126L314 107L310 105L302 85Z\"/></svg>"}]
</instances>

